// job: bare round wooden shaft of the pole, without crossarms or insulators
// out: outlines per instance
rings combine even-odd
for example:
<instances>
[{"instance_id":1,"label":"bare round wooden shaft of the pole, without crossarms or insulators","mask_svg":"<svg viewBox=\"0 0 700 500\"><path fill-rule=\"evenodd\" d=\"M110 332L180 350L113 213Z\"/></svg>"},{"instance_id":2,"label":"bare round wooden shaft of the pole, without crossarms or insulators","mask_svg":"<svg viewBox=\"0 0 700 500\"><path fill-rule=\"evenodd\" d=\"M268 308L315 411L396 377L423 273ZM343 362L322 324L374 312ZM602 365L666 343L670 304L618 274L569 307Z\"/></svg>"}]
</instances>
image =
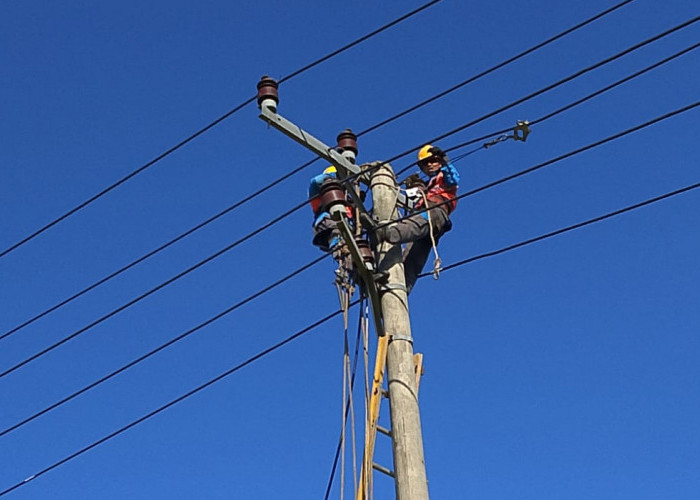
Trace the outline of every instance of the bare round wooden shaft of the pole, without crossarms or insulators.
<instances>
[{"instance_id":1,"label":"bare round wooden shaft of the pole, without crossarms or insulators","mask_svg":"<svg viewBox=\"0 0 700 500\"><path fill-rule=\"evenodd\" d=\"M391 165L384 164L370 181L374 216L379 220L396 219L398 187ZM391 435L394 451L394 475L397 500L427 500L423 437L418 411L413 337L408 316L408 295L403 273L401 245L381 243L379 269L389 272L381 308L384 332L389 337L387 377Z\"/></svg>"}]
</instances>

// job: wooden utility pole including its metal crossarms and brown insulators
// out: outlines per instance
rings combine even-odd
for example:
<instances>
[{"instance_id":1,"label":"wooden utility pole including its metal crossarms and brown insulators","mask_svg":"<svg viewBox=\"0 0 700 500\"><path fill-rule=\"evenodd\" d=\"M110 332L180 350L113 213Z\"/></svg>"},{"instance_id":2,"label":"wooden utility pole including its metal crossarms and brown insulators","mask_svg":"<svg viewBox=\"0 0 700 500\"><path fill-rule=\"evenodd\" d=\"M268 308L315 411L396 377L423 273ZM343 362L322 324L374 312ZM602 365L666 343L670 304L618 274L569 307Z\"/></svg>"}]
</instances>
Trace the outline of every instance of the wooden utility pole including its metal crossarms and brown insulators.
<instances>
[{"instance_id":1,"label":"wooden utility pole including its metal crossarms and brown insulators","mask_svg":"<svg viewBox=\"0 0 700 500\"><path fill-rule=\"evenodd\" d=\"M405 204L406 198L396 186L396 178L391 166L373 164L370 167L371 177L367 179L367 172L355 165L357 154L355 135L347 130L338 136L337 147L327 146L277 113L279 103L277 88L277 82L267 76L258 83L260 118L334 165L340 180L356 176L364 184L369 181L374 201L374 218L381 221L396 219L397 206ZM328 196L329 200L333 200L329 205L329 213L336 220L338 229L343 234L345 244L353 257L355 268L364 282L370 298L377 335L380 336L380 345L386 346L388 340L386 369L395 470L393 473L387 472L394 477L397 500L427 500L428 483L418 411L416 364L413 356L413 338L408 316L408 295L401 245L381 243L376 249L379 253L378 269L387 271L389 276L388 282L378 288L374 280L377 269L374 267L372 251L365 240L355 237L350 231L342 204L345 202L345 195L340 189L340 184L336 184L336 186L328 186L329 190L333 191ZM358 194L353 189L347 190L347 193L353 199L355 207L369 218ZM360 221L356 223L359 224ZM378 353L377 356L379 357L380 354ZM378 366L381 373L382 363ZM381 378L376 382L381 384ZM380 389L379 386L378 389ZM376 410L378 411L378 399ZM372 465L371 457L370 465ZM370 471L363 468L363 478L368 474ZM364 498L367 498L367 494L365 490L361 493Z\"/></svg>"}]
</instances>

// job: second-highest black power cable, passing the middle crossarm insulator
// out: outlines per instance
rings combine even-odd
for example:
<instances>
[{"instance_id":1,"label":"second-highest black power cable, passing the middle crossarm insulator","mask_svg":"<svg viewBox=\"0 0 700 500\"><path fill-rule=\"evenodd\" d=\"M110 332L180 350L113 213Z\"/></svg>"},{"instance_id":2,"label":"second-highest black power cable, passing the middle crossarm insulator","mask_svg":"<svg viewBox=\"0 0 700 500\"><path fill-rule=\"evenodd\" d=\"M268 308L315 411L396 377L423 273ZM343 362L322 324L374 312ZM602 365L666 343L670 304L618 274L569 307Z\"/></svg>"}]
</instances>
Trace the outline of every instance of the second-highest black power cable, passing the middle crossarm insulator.
<instances>
[{"instance_id":1,"label":"second-highest black power cable, passing the middle crossarm insulator","mask_svg":"<svg viewBox=\"0 0 700 500\"><path fill-rule=\"evenodd\" d=\"M559 33L559 34L557 34L557 35L555 35L555 36L553 36L553 37L551 37L551 38L549 38L549 39L547 39L547 40L545 40L545 41L543 41L543 42L541 42L541 43L539 43L539 44L537 44L537 45L535 45L535 46L533 46L533 47L531 47L531 48L529 48L529 49L527 49L527 50L525 50L525 51L523 51L523 52L521 52L520 54L518 54L518 55L516 55L516 56L514 56L514 57L511 57L511 58L509 58L509 59L506 59L505 61L503 61L503 62L501 62L501 63L499 63L499 64L497 64L497 65L495 65L495 66L493 66L493 67L491 67L491 68L489 68L489 69L487 69L487 70L485 70L485 71L482 71L481 73L479 73L479 74L477 74L477 75L474 75L474 76L472 76L472 77L470 77L470 78L468 78L468 79L462 81L461 83L459 83L458 85L455 85L454 87L451 87L451 88L449 88L449 89L447 89L447 90L445 90L445 91L443 91L443 92L440 92L439 94L436 94L436 95L434 95L433 97L431 97L431 98L429 98L429 99L427 99L427 100L425 100L425 101L423 101L423 102L421 102L421 103L419 103L419 104L417 104L417 105L415 105L415 106L412 106L411 108L409 108L409 109L407 109L407 110L404 110L404 111L402 111L402 112L400 112L400 113L398 113L398 114L396 114L396 115L394 115L394 116L392 116L392 117L389 117L389 118L383 120L382 122L379 122L379 123L373 125L372 127L368 128L368 129L363 130L362 132L358 133L357 136L359 137L359 136L362 136L362 135L364 135L364 134L370 133L370 132L376 130L377 128L379 128L379 127L381 127L381 126L383 126L383 125L386 125L386 124L388 124L388 123L390 123L390 122L392 122L392 121L394 121L394 120L397 120L398 118L401 118L401 117L407 115L408 113L411 113L411 112L413 112L413 111L419 109L419 108L422 107L422 106L425 106L425 105L427 105L427 104L429 104L429 103L431 103L431 102L433 102L433 101L435 101L435 100L437 100L437 99L439 99L439 98L441 98L441 97L444 97L445 95L447 95L447 94L449 94L449 93L451 93L451 92L453 92L453 91L455 91L455 90L457 90L457 89L459 89L459 88L461 88L461 87L463 87L463 86L465 86L465 85L467 85L467 84L469 84L469 83L471 83L471 82L474 82L474 81L476 81L476 80L478 80L478 79L480 79L480 78L482 78L482 77L484 77L484 76L486 76L486 75L488 75L488 74L490 74L490 73L496 71L497 69L500 69L500 68L506 66L507 64L510 64L510 63L512 63L512 62L514 62L514 61L516 61L516 60L518 60L518 59L520 59L520 58L522 58L522 57L524 57L524 56L526 56L526 55L528 55L528 54L530 54L530 53L532 53L532 52L534 52L534 51L536 51L536 50L538 50L538 49L543 48L543 47L545 47L546 45L548 45L548 44L550 44L550 43L552 43L552 42L554 42L554 41L556 41L556 40L558 40L558 39L560 39L560 38L562 38L562 37L564 37L564 36L566 36L566 35L568 35L568 34L574 32L574 31L576 31L576 30L578 30L578 29L580 29L580 28L582 28L582 27L584 27L584 26L586 26L587 24L590 24L591 22L593 22L593 21L595 21L595 20L597 20L597 19L600 19L601 17L603 17L603 16L605 16L605 15L607 15L607 14L609 14L609 13L615 11L615 10L617 10L618 8L624 6L624 5L626 5L626 4L628 4L628 3L632 2L632 1L634 1L634 0L625 0L624 2L621 2L621 3L619 3L619 4L617 4L617 5L613 6L613 7L611 7L611 8L609 8L609 9L606 9L606 10L604 10L604 11L602 11L602 12L596 14L595 16L593 16L593 17L591 17L591 18L589 18L589 19L587 19L587 20L585 20L585 21L583 21L583 22L581 22L581 23L579 23L579 24L573 26L572 28L569 28L569 29L567 29L567 30L565 30L565 31L563 31L563 32L561 32L561 33ZM288 79L288 77L287 77L287 79ZM510 129L505 129L505 130L500 131L500 132L494 132L494 133L491 134L491 135L485 136L484 139L487 139L487 138L489 138L489 137L492 137L493 135L497 135L497 134L502 134L502 133L508 132L509 130L510 130ZM475 139L475 140L474 140L474 142L478 142L478 141L479 141L479 139ZM458 146L458 147L459 147L459 146ZM453 148L453 149L454 149L454 148ZM408 153L407 153L407 154L408 154ZM43 312L41 312L41 313L39 313L39 314L36 314L36 315L33 316L32 318L30 318L30 319L24 321L23 323L21 323L21 324L15 326L14 328L12 328L12 329L10 329L10 330L4 332L3 334L0 335L0 340L2 340L2 339L4 339L4 338L6 338L6 337L12 335L13 333L15 333L15 332L21 330L22 328L25 328L26 326L29 326L30 324L32 324L32 323L34 323L35 321L37 321L37 320L43 318L43 317L46 316L47 314L50 314L50 313L52 313L53 311L55 311L55 310L57 310L57 309L59 309L59 308L65 306L65 305L67 305L68 303L72 302L73 300L75 300L75 299L81 297L82 295L88 293L88 292L91 291L91 290L94 290L94 289L97 288L98 286L100 286L100 285L106 283L107 281L109 281L109 280L115 278L116 276L120 275L121 273L126 272L127 270L131 269L132 267L136 266L137 264L140 264L141 262L144 262L145 260L149 259L150 257L152 257L152 256L154 256L154 255L156 255L156 254L158 254L159 252L165 250L166 248L170 247L171 245L177 243L178 241L182 240L183 238L185 238L185 237L189 236L190 234L194 233L195 231L198 231L199 229L202 229L203 227L205 227L205 226L211 224L212 222L216 221L217 219L219 219L219 218L223 217L224 215L226 215L226 214L232 212L233 210L235 210L236 208L240 207L241 205L247 203L248 201L252 200L253 198L255 198L255 197L261 195L262 193L268 191L269 189L271 189L272 187L274 187L274 186L277 185L278 183L284 181L285 179L291 177L292 175L294 175L294 174L296 174L296 173L298 173L298 172L301 172L301 171L304 170L306 167L312 165L313 163L315 163L315 162L318 161L318 160L319 160L319 158L314 158L313 160L310 160L310 161L304 163L303 165L301 165L301 166L295 168L294 170L288 172L287 174L285 174L285 175L279 177L278 179L276 179L276 180L272 181L271 183L267 184L266 186L264 186L264 187L258 189L257 191L255 191L255 192L252 193L251 195L249 195L249 196L243 198L242 200L240 200L240 201L234 203L233 205L229 206L228 208L222 210L222 211L219 212L218 214L216 214L216 215L214 215L214 216L208 218L207 220L205 220L205 221L203 221L203 222L197 224L197 225L194 226L193 228L191 228L191 229L185 231L184 233L182 233L182 234L180 234L179 236L173 238L172 240L168 241L167 243L162 244L161 246L159 246L159 247L156 248L155 250L152 250L152 251L148 252L148 253L145 254L144 256L139 257L138 259L132 261L131 263L129 263L129 264L127 264L127 265L121 267L121 268L118 269L117 271L114 271L113 273L109 274L108 276L106 276L106 277L104 277L104 278L102 278L102 279L96 281L96 282L93 283L92 285L90 285L90 286L88 286L88 287L82 289L81 291L79 291L79 292L73 294L72 296L68 297L67 299L64 299L64 300L60 301L59 303L55 304L54 306L49 307L48 309L44 310ZM410 166L412 166L412 165L409 165L409 167L410 167ZM409 167L407 167L407 168L409 168ZM401 173L401 172L399 172L399 174L400 174L400 173Z\"/></svg>"}]
</instances>

